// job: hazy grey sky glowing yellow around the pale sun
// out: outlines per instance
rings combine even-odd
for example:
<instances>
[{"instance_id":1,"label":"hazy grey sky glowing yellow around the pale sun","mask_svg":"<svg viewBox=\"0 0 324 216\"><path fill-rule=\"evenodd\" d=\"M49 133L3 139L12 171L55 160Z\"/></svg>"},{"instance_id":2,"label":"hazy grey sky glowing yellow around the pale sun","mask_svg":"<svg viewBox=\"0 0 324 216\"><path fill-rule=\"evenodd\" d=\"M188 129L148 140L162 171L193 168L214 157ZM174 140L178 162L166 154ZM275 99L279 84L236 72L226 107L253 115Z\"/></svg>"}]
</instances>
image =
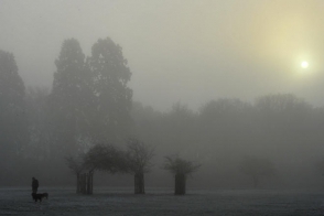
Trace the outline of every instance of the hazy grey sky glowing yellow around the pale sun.
<instances>
[{"instance_id":1,"label":"hazy grey sky glowing yellow around the pale sun","mask_svg":"<svg viewBox=\"0 0 324 216\"><path fill-rule=\"evenodd\" d=\"M0 0L0 50L26 86L52 86L62 42L123 48L133 99L168 110L292 93L324 105L324 1ZM310 66L301 68L301 62Z\"/></svg>"}]
</instances>

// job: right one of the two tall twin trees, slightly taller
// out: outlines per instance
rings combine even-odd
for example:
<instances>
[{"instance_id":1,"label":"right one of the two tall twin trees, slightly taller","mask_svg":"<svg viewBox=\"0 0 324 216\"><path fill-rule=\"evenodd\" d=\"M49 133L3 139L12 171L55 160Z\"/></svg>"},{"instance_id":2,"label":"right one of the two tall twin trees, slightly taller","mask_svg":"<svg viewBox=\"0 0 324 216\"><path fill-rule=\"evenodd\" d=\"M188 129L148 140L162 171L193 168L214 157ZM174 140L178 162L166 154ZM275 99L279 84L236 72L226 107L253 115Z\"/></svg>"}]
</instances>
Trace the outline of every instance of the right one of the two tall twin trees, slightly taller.
<instances>
[{"instance_id":1,"label":"right one of the two tall twin trees, slightly taller","mask_svg":"<svg viewBox=\"0 0 324 216\"><path fill-rule=\"evenodd\" d=\"M131 73L121 46L109 37L99 39L93 46L88 65L96 96L97 142L123 140L131 123L132 90L127 86Z\"/></svg>"}]
</instances>

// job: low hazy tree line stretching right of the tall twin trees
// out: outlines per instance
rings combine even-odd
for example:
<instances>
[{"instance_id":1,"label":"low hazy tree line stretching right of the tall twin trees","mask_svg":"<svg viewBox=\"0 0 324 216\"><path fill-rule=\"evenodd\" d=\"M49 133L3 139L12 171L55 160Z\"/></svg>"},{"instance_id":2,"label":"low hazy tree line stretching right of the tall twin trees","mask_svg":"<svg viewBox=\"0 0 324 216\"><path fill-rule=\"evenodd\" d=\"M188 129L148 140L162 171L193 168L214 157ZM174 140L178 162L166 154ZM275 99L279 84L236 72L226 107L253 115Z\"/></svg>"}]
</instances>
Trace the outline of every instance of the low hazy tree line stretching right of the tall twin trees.
<instances>
[{"instance_id":1,"label":"low hazy tree line stretching right of the tall twin trees","mask_svg":"<svg viewBox=\"0 0 324 216\"><path fill-rule=\"evenodd\" d=\"M160 154L172 150L203 164L195 186L323 184L324 109L292 94L260 96L252 102L220 98L198 111L176 102L160 112L134 102L132 116L137 134L155 143Z\"/></svg>"}]
</instances>

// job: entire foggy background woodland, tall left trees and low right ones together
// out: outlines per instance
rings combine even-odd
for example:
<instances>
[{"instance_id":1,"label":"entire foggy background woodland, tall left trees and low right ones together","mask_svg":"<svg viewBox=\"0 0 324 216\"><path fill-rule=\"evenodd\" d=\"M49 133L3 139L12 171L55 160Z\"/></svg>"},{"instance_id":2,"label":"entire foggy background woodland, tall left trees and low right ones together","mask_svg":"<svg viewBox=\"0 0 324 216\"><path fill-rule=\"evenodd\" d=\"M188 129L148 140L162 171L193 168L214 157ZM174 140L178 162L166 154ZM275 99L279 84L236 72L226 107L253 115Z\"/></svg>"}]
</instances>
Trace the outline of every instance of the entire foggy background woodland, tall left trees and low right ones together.
<instances>
[{"instance_id":1,"label":"entire foggy background woodland, tall left trees and low right ones together","mask_svg":"<svg viewBox=\"0 0 324 216\"><path fill-rule=\"evenodd\" d=\"M98 143L127 147L132 134L162 155L154 156L154 164L173 153L202 163L193 184L258 185L261 176L268 185L321 182L324 109L292 94L255 101L220 98L197 111L175 102L161 112L132 101L130 68L121 46L109 37L93 45L91 56L77 40L65 40L55 65L51 90L25 88L13 54L0 51L2 183L21 184L32 174L64 184L69 180L66 156L85 154ZM156 184L164 181L154 173Z\"/></svg>"}]
</instances>

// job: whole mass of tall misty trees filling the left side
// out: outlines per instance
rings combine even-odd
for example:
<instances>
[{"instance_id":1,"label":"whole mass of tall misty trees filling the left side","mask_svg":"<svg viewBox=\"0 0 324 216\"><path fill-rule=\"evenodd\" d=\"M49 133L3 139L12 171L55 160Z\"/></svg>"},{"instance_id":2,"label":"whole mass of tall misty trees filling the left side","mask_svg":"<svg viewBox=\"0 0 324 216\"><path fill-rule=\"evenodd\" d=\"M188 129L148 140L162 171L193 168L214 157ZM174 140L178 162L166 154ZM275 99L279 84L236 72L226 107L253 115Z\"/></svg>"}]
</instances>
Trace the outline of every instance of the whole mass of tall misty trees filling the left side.
<instances>
[{"instance_id":1,"label":"whole mass of tall misty trees filling the left side","mask_svg":"<svg viewBox=\"0 0 324 216\"><path fill-rule=\"evenodd\" d=\"M131 72L121 46L99 39L86 57L78 41L68 39L55 65L51 91L25 89L13 54L0 51L1 169L8 172L17 159L60 163L130 133Z\"/></svg>"}]
</instances>

